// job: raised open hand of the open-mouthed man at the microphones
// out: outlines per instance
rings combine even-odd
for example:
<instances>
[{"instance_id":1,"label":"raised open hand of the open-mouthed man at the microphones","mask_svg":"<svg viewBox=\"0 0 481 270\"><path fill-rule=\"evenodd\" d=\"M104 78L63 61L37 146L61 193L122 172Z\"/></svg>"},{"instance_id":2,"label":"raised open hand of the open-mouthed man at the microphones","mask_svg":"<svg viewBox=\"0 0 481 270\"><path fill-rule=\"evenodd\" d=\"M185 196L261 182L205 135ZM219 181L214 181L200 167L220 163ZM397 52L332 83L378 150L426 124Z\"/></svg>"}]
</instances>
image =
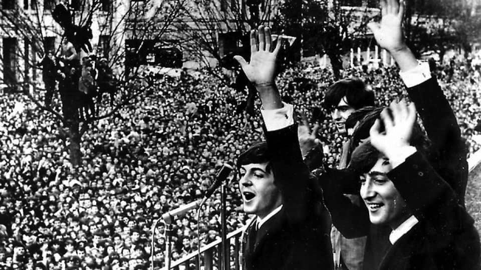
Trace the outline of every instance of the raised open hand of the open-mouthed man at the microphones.
<instances>
[{"instance_id":1,"label":"raised open hand of the open-mouthed man at the microphones","mask_svg":"<svg viewBox=\"0 0 481 270\"><path fill-rule=\"evenodd\" d=\"M251 60L248 63L244 57L235 55L234 59L247 75L247 78L256 88L274 85L274 78L277 72L277 55L281 48L281 36L278 37L277 46L271 52L272 37L271 29L259 26L259 37L257 31L251 31ZM259 41L259 42L258 42Z\"/></svg>"}]
</instances>

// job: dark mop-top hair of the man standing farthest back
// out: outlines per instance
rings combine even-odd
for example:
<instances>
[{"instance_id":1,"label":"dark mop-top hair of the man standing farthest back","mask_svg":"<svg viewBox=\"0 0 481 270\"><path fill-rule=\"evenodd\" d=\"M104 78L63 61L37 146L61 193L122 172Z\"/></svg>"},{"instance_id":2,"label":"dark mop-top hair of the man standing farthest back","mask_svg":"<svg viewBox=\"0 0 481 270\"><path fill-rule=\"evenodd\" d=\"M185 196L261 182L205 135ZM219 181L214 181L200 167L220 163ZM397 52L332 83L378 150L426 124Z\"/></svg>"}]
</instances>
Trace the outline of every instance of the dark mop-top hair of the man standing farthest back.
<instances>
[{"instance_id":1,"label":"dark mop-top hair of the man standing farthest back","mask_svg":"<svg viewBox=\"0 0 481 270\"><path fill-rule=\"evenodd\" d=\"M344 96L347 104L355 109L374 106L374 92L367 90L366 84L360 78L350 77L329 86L324 97L324 107L336 107Z\"/></svg>"}]
</instances>

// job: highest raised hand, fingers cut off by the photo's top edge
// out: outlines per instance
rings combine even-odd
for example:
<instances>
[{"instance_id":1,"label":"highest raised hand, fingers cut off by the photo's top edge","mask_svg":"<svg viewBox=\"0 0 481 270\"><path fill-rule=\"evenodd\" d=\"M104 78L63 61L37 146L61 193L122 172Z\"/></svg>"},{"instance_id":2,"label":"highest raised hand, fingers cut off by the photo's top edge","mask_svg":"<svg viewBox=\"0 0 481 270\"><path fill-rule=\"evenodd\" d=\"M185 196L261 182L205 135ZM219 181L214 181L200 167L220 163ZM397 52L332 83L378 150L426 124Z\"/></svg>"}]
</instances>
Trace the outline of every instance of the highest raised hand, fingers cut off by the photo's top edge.
<instances>
[{"instance_id":1,"label":"highest raised hand, fingers cut off by the photo's top edge","mask_svg":"<svg viewBox=\"0 0 481 270\"><path fill-rule=\"evenodd\" d=\"M403 40L402 17L404 15L404 0L381 0L381 22L370 22L368 27L372 30L379 46L395 52L406 48Z\"/></svg>"}]
</instances>

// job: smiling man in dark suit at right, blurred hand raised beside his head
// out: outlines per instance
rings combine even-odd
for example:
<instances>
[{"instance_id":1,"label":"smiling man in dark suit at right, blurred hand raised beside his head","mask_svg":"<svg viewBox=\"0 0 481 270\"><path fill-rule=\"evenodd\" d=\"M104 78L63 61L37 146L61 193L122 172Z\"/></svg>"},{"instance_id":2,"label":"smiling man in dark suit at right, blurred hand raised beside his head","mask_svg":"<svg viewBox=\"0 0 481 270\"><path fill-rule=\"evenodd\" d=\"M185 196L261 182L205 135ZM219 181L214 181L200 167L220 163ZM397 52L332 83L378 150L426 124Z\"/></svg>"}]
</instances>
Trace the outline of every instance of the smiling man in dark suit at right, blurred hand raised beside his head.
<instances>
[{"instance_id":1,"label":"smiling man in dark suit at right, blurred hand raised beside his head","mask_svg":"<svg viewBox=\"0 0 481 270\"><path fill-rule=\"evenodd\" d=\"M388 224L391 246L378 269L477 269L474 220L426 158L429 144L415 127L414 103L392 103L353 152L367 207L357 223ZM364 226L366 227L366 226ZM368 238L371 234L368 232Z\"/></svg>"}]
</instances>

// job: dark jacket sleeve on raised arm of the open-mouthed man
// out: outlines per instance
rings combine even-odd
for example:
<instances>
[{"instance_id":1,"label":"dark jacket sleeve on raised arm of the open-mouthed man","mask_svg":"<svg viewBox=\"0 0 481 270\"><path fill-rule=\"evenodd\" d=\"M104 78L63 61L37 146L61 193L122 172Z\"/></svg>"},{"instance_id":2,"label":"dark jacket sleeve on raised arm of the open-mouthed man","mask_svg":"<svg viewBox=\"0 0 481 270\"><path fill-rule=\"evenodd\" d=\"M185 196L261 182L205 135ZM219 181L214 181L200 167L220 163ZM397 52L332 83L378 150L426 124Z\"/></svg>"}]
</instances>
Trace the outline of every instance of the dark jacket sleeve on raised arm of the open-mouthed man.
<instances>
[{"instance_id":1,"label":"dark jacket sleeve on raised arm of the open-mouthed man","mask_svg":"<svg viewBox=\"0 0 481 270\"><path fill-rule=\"evenodd\" d=\"M283 208L290 222L303 221L308 213L309 169L299 147L297 124L266 133L276 184L283 195Z\"/></svg>"}]
</instances>

